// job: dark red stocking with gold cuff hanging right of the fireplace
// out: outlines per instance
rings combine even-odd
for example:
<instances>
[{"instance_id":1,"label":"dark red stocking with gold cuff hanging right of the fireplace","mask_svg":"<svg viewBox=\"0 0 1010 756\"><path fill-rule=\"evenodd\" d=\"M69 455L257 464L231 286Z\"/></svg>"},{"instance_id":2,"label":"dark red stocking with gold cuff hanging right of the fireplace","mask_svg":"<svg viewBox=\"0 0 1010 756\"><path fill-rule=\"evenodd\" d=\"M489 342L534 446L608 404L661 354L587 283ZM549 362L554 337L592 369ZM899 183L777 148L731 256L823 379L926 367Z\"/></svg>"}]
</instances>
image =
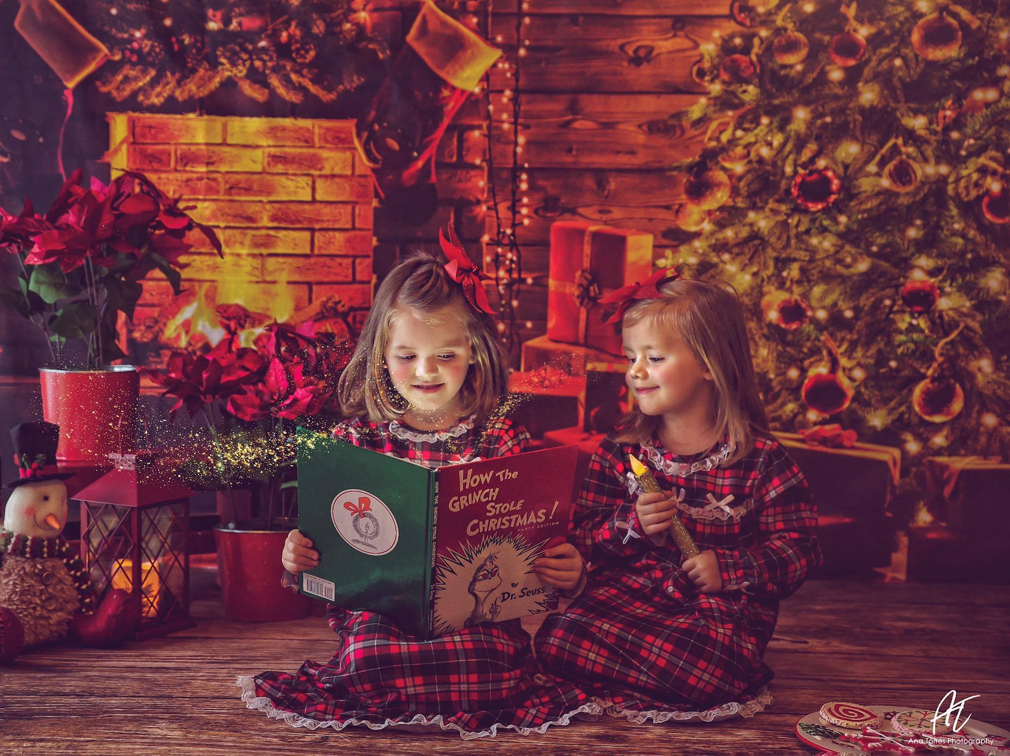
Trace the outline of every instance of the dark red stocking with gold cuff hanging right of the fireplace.
<instances>
[{"instance_id":1,"label":"dark red stocking with gold cuff hanging right of the fireplace","mask_svg":"<svg viewBox=\"0 0 1010 756\"><path fill-rule=\"evenodd\" d=\"M419 224L434 213L438 142L500 55L434 3L421 7L407 43L356 128L358 148L384 204L402 220Z\"/></svg>"}]
</instances>

